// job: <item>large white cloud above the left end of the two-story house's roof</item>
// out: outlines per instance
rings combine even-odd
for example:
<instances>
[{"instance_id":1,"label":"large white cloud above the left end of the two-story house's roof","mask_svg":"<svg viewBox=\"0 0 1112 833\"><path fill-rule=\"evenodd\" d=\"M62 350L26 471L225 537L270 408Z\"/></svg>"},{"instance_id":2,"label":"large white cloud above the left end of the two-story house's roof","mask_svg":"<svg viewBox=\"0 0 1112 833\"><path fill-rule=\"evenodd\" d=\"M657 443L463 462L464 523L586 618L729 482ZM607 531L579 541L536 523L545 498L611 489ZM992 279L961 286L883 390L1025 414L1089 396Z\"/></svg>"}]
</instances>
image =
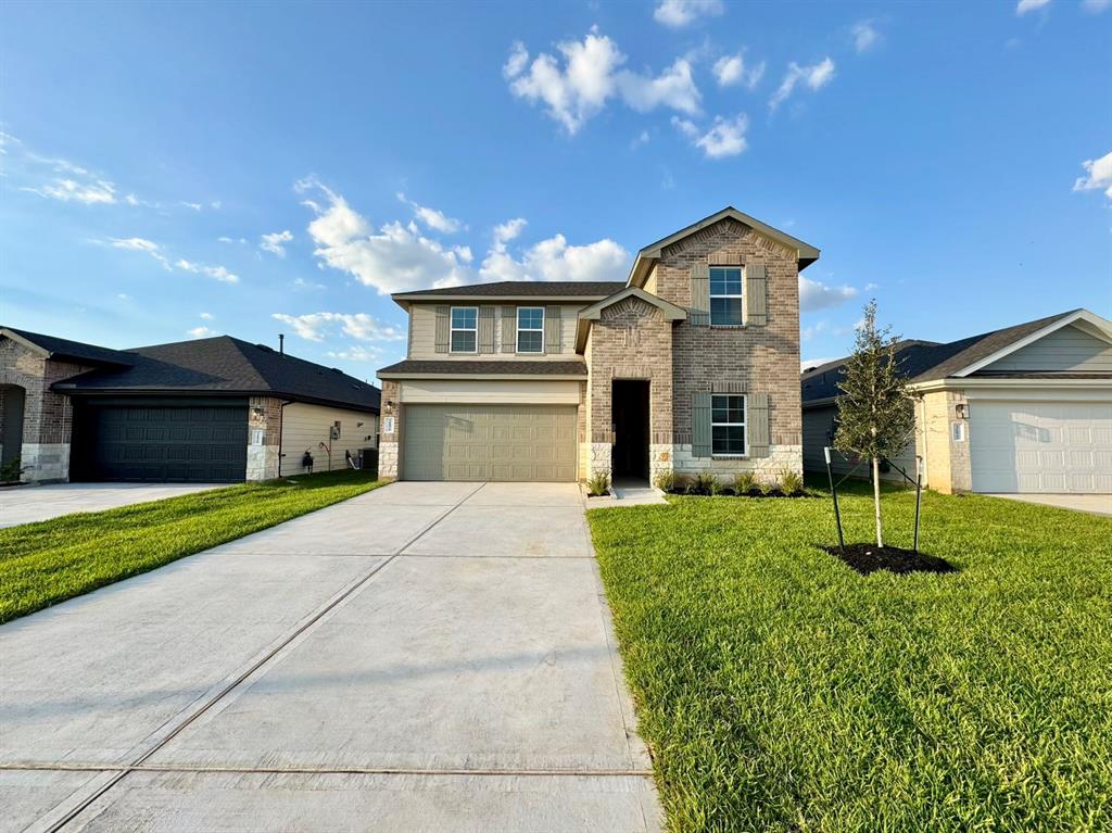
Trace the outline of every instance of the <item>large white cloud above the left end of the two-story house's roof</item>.
<instances>
[{"instance_id":1,"label":"large white cloud above the left end of the two-story house's roof","mask_svg":"<svg viewBox=\"0 0 1112 833\"><path fill-rule=\"evenodd\" d=\"M317 190L327 200L327 205L304 200L317 215L308 231L316 244L314 254L324 265L353 275L381 295L466 282L470 259L466 248L445 247L413 222L388 222L376 230L342 196L315 179L302 180L296 188Z\"/></svg>"}]
</instances>

